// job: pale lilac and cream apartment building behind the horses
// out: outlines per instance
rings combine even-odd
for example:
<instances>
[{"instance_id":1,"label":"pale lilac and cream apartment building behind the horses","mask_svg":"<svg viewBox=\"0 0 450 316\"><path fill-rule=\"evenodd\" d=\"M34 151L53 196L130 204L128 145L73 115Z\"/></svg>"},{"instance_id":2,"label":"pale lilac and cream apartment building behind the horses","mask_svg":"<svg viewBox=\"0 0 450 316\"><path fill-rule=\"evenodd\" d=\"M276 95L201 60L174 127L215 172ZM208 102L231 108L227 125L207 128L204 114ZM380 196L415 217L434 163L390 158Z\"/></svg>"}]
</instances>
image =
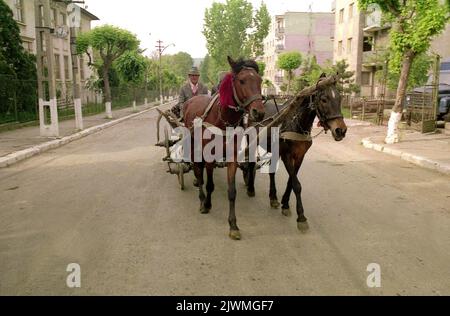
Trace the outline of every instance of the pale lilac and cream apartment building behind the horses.
<instances>
[{"instance_id":1,"label":"pale lilac and cream apartment building behind the horses","mask_svg":"<svg viewBox=\"0 0 450 316\"><path fill-rule=\"evenodd\" d=\"M278 56L299 51L304 56L316 56L320 65L333 59L334 15L332 13L286 12L273 18L269 35L264 40L265 78L279 93L284 72L277 67Z\"/></svg>"}]
</instances>

